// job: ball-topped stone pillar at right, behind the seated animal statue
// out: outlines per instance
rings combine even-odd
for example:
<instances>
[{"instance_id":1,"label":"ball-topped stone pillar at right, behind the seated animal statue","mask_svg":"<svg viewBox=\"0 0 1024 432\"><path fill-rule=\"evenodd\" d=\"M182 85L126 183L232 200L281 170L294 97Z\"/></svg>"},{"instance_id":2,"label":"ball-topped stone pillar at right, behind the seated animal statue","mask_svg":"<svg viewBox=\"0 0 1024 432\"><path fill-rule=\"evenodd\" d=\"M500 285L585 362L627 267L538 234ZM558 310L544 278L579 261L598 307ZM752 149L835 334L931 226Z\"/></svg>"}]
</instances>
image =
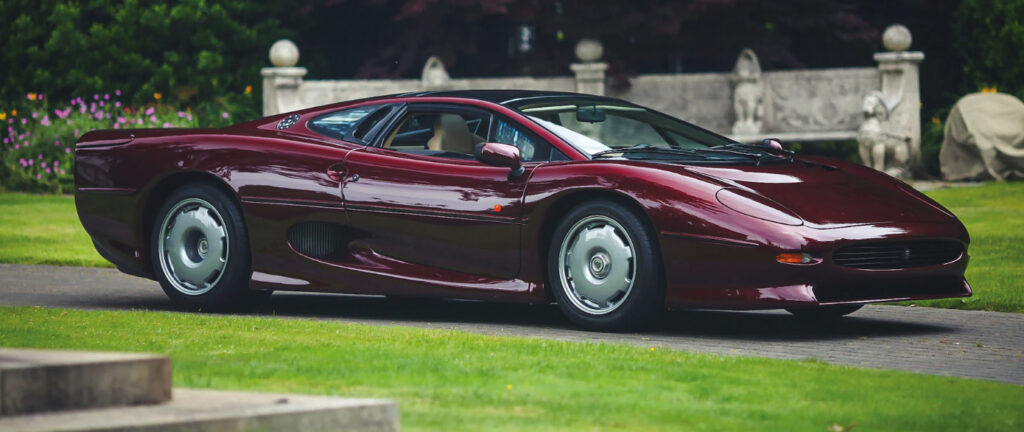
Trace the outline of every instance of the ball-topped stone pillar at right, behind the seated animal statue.
<instances>
[{"instance_id":1,"label":"ball-topped stone pillar at right, behind the seated animal statue","mask_svg":"<svg viewBox=\"0 0 1024 432\"><path fill-rule=\"evenodd\" d=\"M889 128L909 138L911 172L921 169L921 85L918 66L925 59L921 51L907 51L912 38L900 25L890 26L882 35L888 52L874 54L882 76L882 94L889 101Z\"/></svg>"}]
</instances>

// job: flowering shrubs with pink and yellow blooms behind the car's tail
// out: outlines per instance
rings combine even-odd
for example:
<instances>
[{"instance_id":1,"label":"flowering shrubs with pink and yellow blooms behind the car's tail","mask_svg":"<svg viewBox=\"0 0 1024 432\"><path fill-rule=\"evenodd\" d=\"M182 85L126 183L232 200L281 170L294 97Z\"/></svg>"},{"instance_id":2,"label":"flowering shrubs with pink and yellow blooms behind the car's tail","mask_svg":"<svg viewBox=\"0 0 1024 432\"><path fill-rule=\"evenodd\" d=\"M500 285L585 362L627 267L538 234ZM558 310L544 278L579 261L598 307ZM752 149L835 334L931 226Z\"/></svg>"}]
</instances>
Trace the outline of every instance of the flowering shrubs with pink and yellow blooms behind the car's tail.
<instances>
[{"instance_id":1,"label":"flowering shrubs with pink and yellow blooms behind the car's tail","mask_svg":"<svg viewBox=\"0 0 1024 432\"><path fill-rule=\"evenodd\" d=\"M116 90L53 103L45 94L29 93L18 107L0 111L6 127L0 134L0 184L9 190L73 191L75 141L94 129L212 127L234 121L227 111L134 106L125 96Z\"/></svg>"}]
</instances>

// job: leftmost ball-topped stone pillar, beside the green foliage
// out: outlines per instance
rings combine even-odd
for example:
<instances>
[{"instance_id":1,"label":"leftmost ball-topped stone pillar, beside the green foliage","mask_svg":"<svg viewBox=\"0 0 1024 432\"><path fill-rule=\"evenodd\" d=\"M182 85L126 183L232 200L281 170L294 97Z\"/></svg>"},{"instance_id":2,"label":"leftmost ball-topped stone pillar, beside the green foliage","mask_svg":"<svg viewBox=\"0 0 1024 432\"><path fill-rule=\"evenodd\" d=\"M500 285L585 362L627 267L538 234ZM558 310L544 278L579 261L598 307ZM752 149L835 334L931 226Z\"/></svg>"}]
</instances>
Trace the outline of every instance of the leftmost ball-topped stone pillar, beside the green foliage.
<instances>
[{"instance_id":1,"label":"leftmost ball-topped stone pillar, beside the green foliage","mask_svg":"<svg viewBox=\"0 0 1024 432\"><path fill-rule=\"evenodd\" d=\"M306 76L305 68L296 68L299 48L292 41L282 39L270 46L272 68L263 68L263 115L272 116L298 110L299 86Z\"/></svg>"}]
</instances>

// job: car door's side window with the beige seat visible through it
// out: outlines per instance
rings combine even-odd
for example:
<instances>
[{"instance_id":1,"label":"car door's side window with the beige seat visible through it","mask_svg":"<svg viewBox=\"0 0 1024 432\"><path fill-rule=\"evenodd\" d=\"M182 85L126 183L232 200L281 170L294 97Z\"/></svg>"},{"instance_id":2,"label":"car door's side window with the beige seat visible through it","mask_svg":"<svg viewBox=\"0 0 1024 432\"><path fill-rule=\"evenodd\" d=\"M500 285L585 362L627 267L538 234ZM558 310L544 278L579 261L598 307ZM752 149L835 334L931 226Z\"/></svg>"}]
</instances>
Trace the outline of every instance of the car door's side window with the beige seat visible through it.
<instances>
[{"instance_id":1,"label":"car door's side window with the beige seat visible through it","mask_svg":"<svg viewBox=\"0 0 1024 432\"><path fill-rule=\"evenodd\" d=\"M487 134L490 116L453 112L413 112L398 121L383 147L417 155L474 159Z\"/></svg>"}]
</instances>

